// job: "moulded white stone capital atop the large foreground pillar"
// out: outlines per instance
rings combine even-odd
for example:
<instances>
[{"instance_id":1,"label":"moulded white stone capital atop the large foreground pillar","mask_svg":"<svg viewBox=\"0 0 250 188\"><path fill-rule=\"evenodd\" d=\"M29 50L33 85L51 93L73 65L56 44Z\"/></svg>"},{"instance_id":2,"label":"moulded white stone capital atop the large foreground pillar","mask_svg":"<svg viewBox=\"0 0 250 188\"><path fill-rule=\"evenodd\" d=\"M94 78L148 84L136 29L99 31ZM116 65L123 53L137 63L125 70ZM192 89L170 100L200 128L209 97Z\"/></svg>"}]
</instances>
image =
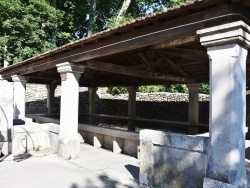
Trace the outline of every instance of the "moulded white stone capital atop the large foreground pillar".
<instances>
[{"instance_id":1,"label":"moulded white stone capital atop the large foreground pillar","mask_svg":"<svg viewBox=\"0 0 250 188\"><path fill-rule=\"evenodd\" d=\"M198 30L197 34L205 47L239 44L243 48L250 48L250 27L243 21Z\"/></svg>"}]
</instances>

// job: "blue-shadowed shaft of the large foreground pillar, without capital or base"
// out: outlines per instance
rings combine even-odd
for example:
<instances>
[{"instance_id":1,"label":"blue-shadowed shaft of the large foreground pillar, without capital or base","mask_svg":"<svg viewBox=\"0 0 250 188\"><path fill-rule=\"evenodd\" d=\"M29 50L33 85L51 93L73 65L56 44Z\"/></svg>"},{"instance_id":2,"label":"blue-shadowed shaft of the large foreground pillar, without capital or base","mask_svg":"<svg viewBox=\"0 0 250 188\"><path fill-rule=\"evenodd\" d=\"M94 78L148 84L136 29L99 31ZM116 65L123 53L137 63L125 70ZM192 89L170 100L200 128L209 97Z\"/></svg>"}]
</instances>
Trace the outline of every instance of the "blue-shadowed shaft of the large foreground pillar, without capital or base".
<instances>
[{"instance_id":1,"label":"blue-shadowed shaft of the large foreground pillar, without capital or base","mask_svg":"<svg viewBox=\"0 0 250 188\"><path fill-rule=\"evenodd\" d=\"M229 184L243 184L246 177L247 50L229 44L210 47L208 54L211 148L207 176Z\"/></svg>"}]
</instances>

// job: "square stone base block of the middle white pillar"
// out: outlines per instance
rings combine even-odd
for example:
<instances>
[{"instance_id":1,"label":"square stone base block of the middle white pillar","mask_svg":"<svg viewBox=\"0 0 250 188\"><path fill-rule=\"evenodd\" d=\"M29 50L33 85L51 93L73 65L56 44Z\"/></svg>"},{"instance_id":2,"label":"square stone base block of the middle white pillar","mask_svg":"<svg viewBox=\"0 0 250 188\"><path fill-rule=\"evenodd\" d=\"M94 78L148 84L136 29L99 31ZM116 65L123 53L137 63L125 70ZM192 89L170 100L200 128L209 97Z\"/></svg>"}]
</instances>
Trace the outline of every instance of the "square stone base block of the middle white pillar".
<instances>
[{"instance_id":1,"label":"square stone base block of the middle white pillar","mask_svg":"<svg viewBox=\"0 0 250 188\"><path fill-rule=\"evenodd\" d=\"M58 156L63 159L75 159L80 153L79 137L75 139L58 139Z\"/></svg>"}]
</instances>

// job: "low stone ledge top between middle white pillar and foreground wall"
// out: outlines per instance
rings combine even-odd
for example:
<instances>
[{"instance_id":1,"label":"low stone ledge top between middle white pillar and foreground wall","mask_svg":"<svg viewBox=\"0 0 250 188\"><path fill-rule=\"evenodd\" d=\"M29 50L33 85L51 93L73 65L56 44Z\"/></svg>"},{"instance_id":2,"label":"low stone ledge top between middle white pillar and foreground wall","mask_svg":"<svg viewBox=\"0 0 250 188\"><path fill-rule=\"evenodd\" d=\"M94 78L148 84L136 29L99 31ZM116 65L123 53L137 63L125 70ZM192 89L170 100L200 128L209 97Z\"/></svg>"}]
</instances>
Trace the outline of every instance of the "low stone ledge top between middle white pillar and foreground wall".
<instances>
[{"instance_id":1,"label":"low stone ledge top between middle white pillar and foreground wall","mask_svg":"<svg viewBox=\"0 0 250 188\"><path fill-rule=\"evenodd\" d=\"M125 131L125 130L117 130L107 127L100 127L100 126L93 126L88 124L79 124L78 128L80 130L108 135L108 136L114 136L119 138L125 138L130 140L139 140L139 134L131 131Z\"/></svg>"}]
</instances>

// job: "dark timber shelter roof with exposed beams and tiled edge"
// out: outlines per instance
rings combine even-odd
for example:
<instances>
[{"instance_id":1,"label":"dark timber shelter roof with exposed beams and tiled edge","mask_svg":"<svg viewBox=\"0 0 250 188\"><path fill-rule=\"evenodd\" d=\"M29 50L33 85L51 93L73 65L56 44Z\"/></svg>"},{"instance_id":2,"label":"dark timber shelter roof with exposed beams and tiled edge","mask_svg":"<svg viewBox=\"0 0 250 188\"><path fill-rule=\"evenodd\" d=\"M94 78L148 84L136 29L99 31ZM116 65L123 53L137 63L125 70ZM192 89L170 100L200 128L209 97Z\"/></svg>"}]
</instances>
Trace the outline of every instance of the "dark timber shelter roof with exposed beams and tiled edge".
<instances>
[{"instance_id":1,"label":"dark timber shelter roof with exposed beams and tiled edge","mask_svg":"<svg viewBox=\"0 0 250 188\"><path fill-rule=\"evenodd\" d=\"M27 59L0 74L7 80L18 74L32 83L60 84L56 65L71 62L84 69L81 86L208 82L209 59L197 31L240 20L250 23L248 0L192 1Z\"/></svg>"}]
</instances>

